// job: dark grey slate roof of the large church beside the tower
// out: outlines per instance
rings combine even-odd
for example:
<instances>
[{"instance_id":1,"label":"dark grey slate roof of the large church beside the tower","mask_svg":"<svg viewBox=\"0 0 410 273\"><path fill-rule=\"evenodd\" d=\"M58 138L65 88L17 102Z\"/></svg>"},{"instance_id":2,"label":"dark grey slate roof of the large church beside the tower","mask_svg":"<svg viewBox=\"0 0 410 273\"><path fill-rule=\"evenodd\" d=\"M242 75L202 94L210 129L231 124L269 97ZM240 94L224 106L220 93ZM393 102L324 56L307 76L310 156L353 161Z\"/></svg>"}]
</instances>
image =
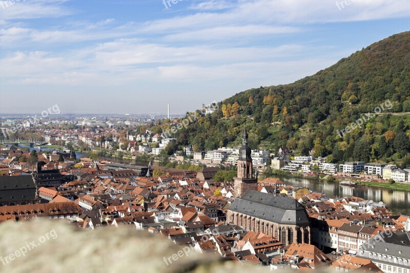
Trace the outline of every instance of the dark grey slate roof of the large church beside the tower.
<instances>
[{"instance_id":1,"label":"dark grey slate roof of the large church beside the tower","mask_svg":"<svg viewBox=\"0 0 410 273\"><path fill-rule=\"evenodd\" d=\"M236 198L228 209L278 224L309 224L304 207L297 200L281 195L251 190Z\"/></svg>"}]
</instances>

